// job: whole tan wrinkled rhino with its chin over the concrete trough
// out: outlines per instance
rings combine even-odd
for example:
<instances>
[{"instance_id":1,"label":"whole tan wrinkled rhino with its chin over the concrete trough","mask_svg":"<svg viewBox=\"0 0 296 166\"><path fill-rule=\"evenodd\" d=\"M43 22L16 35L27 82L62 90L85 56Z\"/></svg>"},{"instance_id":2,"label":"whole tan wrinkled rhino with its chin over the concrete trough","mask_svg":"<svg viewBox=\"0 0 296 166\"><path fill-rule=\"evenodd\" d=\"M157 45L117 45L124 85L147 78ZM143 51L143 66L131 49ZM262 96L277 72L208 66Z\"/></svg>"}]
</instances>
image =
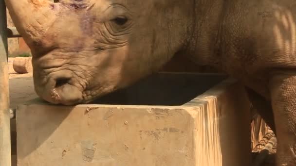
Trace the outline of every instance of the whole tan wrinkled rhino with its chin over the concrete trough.
<instances>
[{"instance_id":1,"label":"whole tan wrinkled rhino with its chin over the concrete trough","mask_svg":"<svg viewBox=\"0 0 296 166\"><path fill-rule=\"evenodd\" d=\"M296 166L295 0L5 1L44 100L87 103L181 51L246 85L277 130L277 166Z\"/></svg>"}]
</instances>

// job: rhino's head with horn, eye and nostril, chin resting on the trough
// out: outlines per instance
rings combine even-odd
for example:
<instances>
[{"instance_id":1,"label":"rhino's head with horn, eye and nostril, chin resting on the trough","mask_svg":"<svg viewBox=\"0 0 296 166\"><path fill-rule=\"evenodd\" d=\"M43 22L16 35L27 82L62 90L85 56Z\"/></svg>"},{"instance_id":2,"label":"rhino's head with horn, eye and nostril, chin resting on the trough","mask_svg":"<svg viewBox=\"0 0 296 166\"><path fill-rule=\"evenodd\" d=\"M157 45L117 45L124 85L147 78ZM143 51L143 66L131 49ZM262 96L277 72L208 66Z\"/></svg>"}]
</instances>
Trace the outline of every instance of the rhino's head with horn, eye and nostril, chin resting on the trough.
<instances>
[{"instance_id":1,"label":"rhino's head with horn, eye and nostril, chin resting on the trough","mask_svg":"<svg viewBox=\"0 0 296 166\"><path fill-rule=\"evenodd\" d=\"M88 103L157 71L190 34L193 0L5 0L37 95ZM192 9L192 10L191 10Z\"/></svg>"}]
</instances>

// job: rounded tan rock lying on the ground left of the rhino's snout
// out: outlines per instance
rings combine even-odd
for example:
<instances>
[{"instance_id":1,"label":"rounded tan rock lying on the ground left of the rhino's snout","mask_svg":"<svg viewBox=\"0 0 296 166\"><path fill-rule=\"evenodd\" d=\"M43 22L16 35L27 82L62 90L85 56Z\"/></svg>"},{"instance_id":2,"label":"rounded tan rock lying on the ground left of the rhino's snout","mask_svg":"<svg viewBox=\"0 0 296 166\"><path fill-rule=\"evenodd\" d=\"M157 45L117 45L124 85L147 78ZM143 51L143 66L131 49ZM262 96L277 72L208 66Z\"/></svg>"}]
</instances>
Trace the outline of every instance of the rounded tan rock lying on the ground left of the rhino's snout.
<instances>
[{"instance_id":1,"label":"rounded tan rock lying on the ground left of the rhino's snout","mask_svg":"<svg viewBox=\"0 0 296 166\"><path fill-rule=\"evenodd\" d=\"M16 57L13 61L13 69L19 74L33 72L32 57Z\"/></svg>"}]
</instances>

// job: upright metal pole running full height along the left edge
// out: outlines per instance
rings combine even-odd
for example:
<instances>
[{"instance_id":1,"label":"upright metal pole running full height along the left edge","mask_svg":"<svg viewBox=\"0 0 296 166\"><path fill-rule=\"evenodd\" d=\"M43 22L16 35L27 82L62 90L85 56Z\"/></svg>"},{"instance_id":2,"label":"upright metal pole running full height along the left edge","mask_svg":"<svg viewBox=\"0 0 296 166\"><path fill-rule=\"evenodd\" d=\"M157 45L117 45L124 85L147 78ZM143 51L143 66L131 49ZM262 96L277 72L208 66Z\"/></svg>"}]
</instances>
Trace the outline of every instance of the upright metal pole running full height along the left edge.
<instances>
[{"instance_id":1,"label":"upright metal pole running full height along the left edge","mask_svg":"<svg viewBox=\"0 0 296 166\"><path fill-rule=\"evenodd\" d=\"M11 166L6 6L0 0L0 166Z\"/></svg>"}]
</instances>

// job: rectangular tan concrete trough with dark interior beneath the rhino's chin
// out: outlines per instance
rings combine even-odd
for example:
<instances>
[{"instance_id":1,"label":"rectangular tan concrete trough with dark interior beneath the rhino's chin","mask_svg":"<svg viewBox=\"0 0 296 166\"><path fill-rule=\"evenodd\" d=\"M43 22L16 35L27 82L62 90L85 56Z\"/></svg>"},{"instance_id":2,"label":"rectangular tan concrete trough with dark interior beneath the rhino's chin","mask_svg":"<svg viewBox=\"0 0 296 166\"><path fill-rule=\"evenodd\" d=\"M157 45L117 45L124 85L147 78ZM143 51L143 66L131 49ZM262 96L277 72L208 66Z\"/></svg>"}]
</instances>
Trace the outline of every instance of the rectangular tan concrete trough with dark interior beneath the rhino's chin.
<instances>
[{"instance_id":1,"label":"rectangular tan concrete trough with dark interior beneath the rhino's chin","mask_svg":"<svg viewBox=\"0 0 296 166\"><path fill-rule=\"evenodd\" d=\"M249 166L250 103L218 74L157 73L92 104L17 109L19 166Z\"/></svg>"}]
</instances>

